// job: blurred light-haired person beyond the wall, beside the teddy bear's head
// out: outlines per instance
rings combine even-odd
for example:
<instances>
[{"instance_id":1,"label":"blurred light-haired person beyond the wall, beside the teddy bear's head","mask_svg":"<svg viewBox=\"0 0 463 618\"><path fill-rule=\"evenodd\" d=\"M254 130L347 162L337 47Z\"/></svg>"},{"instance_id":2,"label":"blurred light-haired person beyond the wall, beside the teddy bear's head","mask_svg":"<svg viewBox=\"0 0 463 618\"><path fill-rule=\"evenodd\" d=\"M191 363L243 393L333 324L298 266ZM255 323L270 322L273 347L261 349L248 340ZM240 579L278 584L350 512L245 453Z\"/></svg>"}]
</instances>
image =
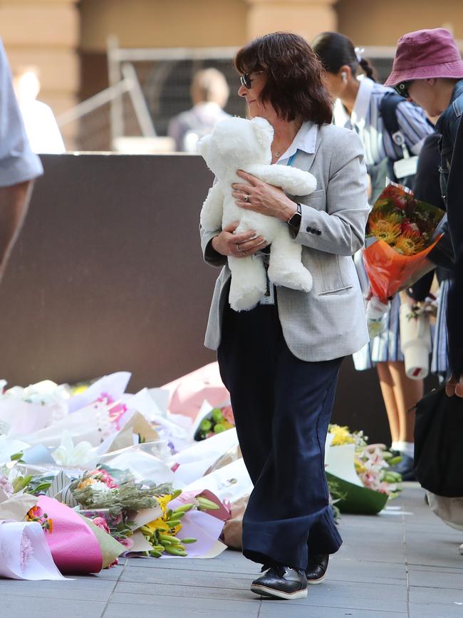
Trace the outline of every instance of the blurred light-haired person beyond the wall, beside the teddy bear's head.
<instances>
[{"instance_id":1,"label":"blurred light-haired person beyond the wall, beside the teddy bear's head","mask_svg":"<svg viewBox=\"0 0 463 618\"><path fill-rule=\"evenodd\" d=\"M167 135L174 138L178 152L195 153L199 138L212 133L220 120L229 118L223 110L229 98L229 87L216 68L204 68L194 74L190 95L193 107L174 116L167 128Z\"/></svg>"}]
</instances>

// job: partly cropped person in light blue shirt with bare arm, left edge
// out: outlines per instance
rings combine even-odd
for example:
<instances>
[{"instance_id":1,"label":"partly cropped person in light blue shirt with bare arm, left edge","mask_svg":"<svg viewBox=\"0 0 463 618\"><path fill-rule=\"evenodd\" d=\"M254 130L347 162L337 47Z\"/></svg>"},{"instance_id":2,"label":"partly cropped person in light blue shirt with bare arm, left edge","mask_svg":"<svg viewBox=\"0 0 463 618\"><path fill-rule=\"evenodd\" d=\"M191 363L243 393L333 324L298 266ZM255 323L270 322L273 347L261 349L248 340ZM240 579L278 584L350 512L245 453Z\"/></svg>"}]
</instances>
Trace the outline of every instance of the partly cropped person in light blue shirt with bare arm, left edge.
<instances>
[{"instance_id":1,"label":"partly cropped person in light blue shirt with bare arm, left edge","mask_svg":"<svg viewBox=\"0 0 463 618\"><path fill-rule=\"evenodd\" d=\"M43 173L28 143L0 40L0 279L26 216L33 179Z\"/></svg>"}]
</instances>

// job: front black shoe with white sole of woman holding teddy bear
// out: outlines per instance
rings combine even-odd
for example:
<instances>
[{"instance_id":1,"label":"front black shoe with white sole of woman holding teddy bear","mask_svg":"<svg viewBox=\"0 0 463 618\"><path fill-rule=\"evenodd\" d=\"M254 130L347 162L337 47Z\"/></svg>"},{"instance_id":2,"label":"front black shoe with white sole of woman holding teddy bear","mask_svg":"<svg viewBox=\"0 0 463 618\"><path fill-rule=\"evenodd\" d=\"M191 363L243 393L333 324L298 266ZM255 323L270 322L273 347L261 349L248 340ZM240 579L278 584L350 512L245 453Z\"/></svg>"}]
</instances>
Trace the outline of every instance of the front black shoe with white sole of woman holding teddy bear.
<instances>
[{"instance_id":1,"label":"front black shoe with white sole of woman holding teddy bear","mask_svg":"<svg viewBox=\"0 0 463 618\"><path fill-rule=\"evenodd\" d=\"M276 599L305 599L307 578L303 571L291 567L263 567L267 572L251 584L251 592Z\"/></svg>"}]
</instances>

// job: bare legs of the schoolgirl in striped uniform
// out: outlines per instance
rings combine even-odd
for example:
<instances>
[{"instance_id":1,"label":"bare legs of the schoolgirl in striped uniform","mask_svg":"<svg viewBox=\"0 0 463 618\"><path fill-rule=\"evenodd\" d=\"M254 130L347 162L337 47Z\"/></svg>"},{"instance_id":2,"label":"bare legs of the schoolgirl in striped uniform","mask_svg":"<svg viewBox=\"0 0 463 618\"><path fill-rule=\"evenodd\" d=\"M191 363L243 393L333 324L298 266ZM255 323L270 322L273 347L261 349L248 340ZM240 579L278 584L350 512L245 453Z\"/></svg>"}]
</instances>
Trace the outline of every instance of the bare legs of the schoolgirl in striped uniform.
<instances>
[{"instance_id":1,"label":"bare legs of the schoolgirl in striped uniform","mask_svg":"<svg viewBox=\"0 0 463 618\"><path fill-rule=\"evenodd\" d=\"M403 361L378 363L377 369L392 442L413 442L415 411L407 411L422 398L423 381L407 378Z\"/></svg>"}]
</instances>

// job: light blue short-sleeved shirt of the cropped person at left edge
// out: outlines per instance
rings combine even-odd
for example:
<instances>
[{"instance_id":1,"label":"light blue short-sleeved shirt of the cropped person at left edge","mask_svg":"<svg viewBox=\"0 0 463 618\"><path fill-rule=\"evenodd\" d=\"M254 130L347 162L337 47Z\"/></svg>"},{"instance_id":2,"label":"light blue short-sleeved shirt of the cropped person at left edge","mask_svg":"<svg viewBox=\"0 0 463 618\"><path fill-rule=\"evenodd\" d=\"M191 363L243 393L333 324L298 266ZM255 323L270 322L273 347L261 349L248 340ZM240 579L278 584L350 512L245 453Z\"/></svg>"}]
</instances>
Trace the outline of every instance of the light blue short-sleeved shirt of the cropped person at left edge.
<instances>
[{"instance_id":1,"label":"light blue short-sleeved shirt of the cropped person at left edge","mask_svg":"<svg viewBox=\"0 0 463 618\"><path fill-rule=\"evenodd\" d=\"M0 187L17 185L41 174L42 164L29 145L0 39Z\"/></svg>"}]
</instances>

